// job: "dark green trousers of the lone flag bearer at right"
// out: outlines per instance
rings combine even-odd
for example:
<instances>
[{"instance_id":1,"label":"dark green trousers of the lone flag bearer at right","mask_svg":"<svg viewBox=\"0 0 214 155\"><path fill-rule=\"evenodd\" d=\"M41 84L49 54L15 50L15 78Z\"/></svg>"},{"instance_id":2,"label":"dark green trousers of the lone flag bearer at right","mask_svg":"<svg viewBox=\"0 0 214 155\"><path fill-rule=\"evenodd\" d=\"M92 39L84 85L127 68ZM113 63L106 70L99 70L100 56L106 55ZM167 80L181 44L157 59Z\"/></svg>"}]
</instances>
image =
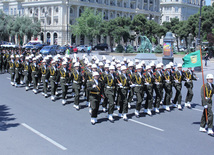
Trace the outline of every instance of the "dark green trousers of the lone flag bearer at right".
<instances>
[{"instance_id":1,"label":"dark green trousers of the lone flag bearer at right","mask_svg":"<svg viewBox=\"0 0 214 155\"><path fill-rule=\"evenodd\" d=\"M213 128L213 112L212 112L211 106L208 106L208 108L207 108L207 116L208 116L207 126L208 126L208 128ZM205 115L205 109L204 109L202 116L201 116L200 127L205 128L205 125L206 125L206 115Z\"/></svg>"}]
</instances>

